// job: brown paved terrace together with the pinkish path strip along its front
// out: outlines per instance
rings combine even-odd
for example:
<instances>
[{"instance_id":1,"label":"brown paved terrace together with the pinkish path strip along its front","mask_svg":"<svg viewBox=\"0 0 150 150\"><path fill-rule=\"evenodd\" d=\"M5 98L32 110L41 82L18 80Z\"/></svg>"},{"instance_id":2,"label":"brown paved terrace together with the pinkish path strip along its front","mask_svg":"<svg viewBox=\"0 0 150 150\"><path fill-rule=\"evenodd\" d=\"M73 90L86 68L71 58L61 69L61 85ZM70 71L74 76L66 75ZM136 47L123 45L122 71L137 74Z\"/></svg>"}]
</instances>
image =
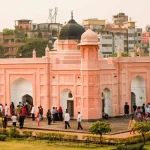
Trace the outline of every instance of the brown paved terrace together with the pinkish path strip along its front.
<instances>
[{"instance_id":1,"label":"brown paved terrace together with the pinkish path strip along its front","mask_svg":"<svg viewBox=\"0 0 150 150\"><path fill-rule=\"evenodd\" d=\"M112 118L109 119L108 122L110 122L111 127L112 127L112 132L111 134L108 135L104 135L104 137L109 137L109 138L126 138L126 137L131 137L131 136L135 136L137 134L130 134L129 132L127 132L127 127L128 127L128 123L129 123L130 117L129 118ZM56 123L52 123L51 125L47 124L47 120L43 120L40 123L40 126L37 125L36 121L31 121L30 118L26 118L25 119L25 123L24 123L24 129L20 130L20 132L24 131L24 130L32 130L33 134L35 135L36 132L54 132L56 133L63 133L63 134L71 134L71 135L78 135L79 140L83 139L83 136L86 135L91 135L88 130L89 127L92 123L90 122L82 122L83 128L84 130L76 130L77 129L77 122L72 120L70 122L71 125L71 129L64 129L64 122L56 122ZM8 126L11 126L12 122L9 121L8 122ZM19 124L17 124L18 126Z\"/></svg>"}]
</instances>

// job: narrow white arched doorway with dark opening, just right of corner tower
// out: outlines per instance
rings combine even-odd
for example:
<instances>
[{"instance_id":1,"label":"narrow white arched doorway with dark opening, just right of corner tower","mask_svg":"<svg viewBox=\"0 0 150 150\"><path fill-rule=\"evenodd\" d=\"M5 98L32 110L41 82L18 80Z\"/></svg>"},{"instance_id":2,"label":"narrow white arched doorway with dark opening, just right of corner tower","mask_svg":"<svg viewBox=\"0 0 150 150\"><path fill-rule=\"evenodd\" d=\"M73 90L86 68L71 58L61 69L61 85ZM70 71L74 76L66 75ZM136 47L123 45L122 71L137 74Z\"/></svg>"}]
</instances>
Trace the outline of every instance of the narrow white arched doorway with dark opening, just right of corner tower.
<instances>
[{"instance_id":1,"label":"narrow white arched doorway with dark opening, just right of corner tower","mask_svg":"<svg viewBox=\"0 0 150 150\"><path fill-rule=\"evenodd\" d=\"M105 88L102 93L102 112L112 116L111 92L108 88Z\"/></svg>"}]
</instances>

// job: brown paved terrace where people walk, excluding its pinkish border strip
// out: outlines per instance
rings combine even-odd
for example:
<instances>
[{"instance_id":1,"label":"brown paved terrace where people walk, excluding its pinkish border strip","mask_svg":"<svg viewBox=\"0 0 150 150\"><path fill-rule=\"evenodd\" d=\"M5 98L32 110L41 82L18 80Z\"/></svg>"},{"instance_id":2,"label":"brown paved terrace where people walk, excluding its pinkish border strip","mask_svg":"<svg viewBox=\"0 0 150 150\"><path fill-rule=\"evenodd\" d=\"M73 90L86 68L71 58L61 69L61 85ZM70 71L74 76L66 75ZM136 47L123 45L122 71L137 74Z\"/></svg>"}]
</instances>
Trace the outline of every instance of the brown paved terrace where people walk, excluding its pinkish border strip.
<instances>
[{"instance_id":1,"label":"brown paved terrace where people walk, excluding its pinkish border strip","mask_svg":"<svg viewBox=\"0 0 150 150\"><path fill-rule=\"evenodd\" d=\"M129 118L112 118L107 120L111 124L112 132L111 134L116 134L120 132L125 132L127 131L128 123L129 123L130 117ZM41 121L40 126L37 125L36 121L31 121L30 118L26 118L24 122L24 127L29 128L29 129L36 129L36 130L53 130L53 131L62 131L62 132L82 132L82 133L88 133L89 132L89 127L92 123L91 122L82 122L82 126L84 128L83 131L78 131L77 130L77 122L75 120L71 120L70 125L71 129L64 129L64 122L56 122L52 123L51 125L47 124L47 120L44 119L44 121ZM9 121L8 125L11 126L12 122ZM18 126L18 124L17 124Z\"/></svg>"}]
</instances>

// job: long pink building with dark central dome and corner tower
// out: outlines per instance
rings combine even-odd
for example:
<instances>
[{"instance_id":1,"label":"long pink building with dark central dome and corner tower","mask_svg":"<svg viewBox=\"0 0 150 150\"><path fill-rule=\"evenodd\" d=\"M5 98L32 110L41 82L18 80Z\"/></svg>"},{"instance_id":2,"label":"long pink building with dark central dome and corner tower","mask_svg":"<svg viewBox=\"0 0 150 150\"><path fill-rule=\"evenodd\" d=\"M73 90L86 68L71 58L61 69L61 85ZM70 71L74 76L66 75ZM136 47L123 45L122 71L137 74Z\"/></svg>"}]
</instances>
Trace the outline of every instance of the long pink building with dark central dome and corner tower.
<instances>
[{"instance_id":1,"label":"long pink building with dark central dome and corner tower","mask_svg":"<svg viewBox=\"0 0 150 150\"><path fill-rule=\"evenodd\" d=\"M53 106L68 109L72 118L78 111L83 119L124 114L124 104L150 102L150 58L102 58L98 38L84 32L73 17L55 42L54 50L36 58L0 59L0 103L42 105L44 113Z\"/></svg>"}]
</instances>

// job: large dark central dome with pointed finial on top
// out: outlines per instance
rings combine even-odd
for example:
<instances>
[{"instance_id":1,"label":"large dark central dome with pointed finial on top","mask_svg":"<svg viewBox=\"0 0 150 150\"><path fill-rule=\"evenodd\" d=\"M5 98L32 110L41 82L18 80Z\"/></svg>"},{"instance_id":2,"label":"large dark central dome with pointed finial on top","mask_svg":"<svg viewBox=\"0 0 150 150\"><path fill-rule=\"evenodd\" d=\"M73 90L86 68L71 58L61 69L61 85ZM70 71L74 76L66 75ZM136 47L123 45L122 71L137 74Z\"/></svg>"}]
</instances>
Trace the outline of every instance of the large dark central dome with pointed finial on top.
<instances>
[{"instance_id":1,"label":"large dark central dome with pointed finial on top","mask_svg":"<svg viewBox=\"0 0 150 150\"><path fill-rule=\"evenodd\" d=\"M59 40L80 40L85 29L72 19L61 29Z\"/></svg>"}]
</instances>

